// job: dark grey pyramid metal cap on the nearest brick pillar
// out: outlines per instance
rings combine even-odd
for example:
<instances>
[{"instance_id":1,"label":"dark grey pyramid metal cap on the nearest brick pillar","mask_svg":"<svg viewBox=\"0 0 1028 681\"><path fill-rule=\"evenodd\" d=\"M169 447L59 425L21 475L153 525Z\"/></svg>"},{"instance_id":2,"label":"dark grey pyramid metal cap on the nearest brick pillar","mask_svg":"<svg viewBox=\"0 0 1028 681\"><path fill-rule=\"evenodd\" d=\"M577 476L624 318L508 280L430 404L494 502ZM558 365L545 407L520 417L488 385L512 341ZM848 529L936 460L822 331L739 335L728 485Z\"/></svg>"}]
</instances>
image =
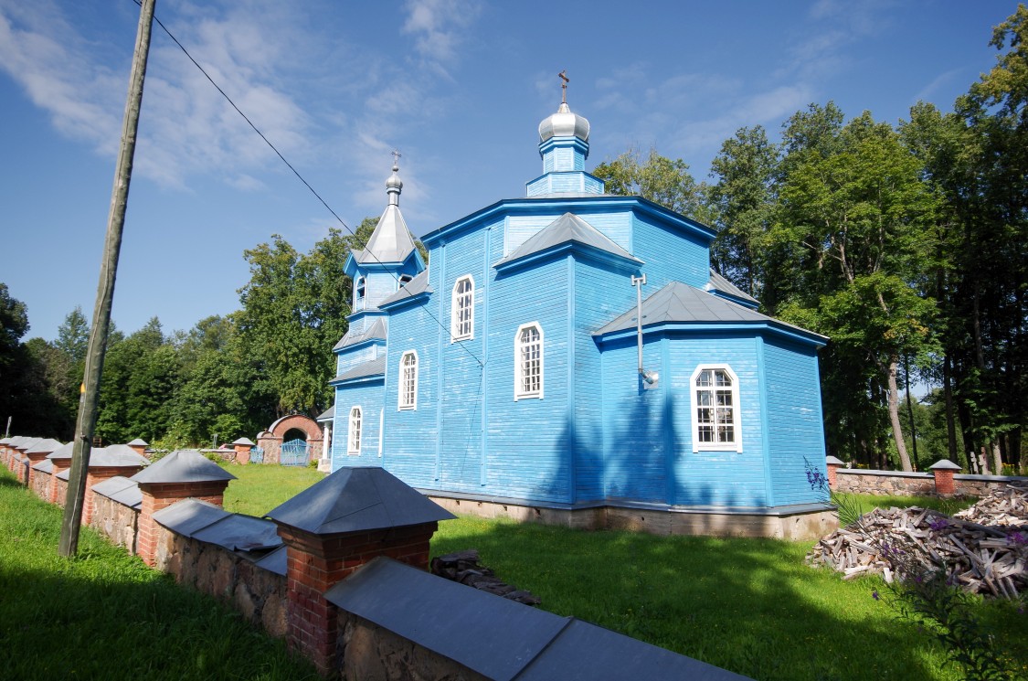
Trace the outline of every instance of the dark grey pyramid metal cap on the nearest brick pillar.
<instances>
[{"instance_id":1,"label":"dark grey pyramid metal cap on the nearest brick pillar","mask_svg":"<svg viewBox=\"0 0 1028 681\"><path fill-rule=\"evenodd\" d=\"M384 530L455 517L377 466L340 468L267 516L313 534Z\"/></svg>"}]
</instances>

